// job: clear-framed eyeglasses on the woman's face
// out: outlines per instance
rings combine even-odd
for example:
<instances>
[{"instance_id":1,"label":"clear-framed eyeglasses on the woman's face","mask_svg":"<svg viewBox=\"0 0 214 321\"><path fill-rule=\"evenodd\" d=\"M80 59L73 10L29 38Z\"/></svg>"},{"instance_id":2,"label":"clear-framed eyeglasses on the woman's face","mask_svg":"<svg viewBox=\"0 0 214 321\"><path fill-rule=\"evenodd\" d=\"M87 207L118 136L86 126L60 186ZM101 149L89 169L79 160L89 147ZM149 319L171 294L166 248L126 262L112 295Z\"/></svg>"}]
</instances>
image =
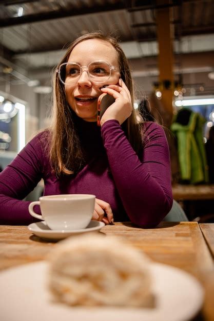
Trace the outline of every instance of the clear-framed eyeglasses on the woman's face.
<instances>
[{"instance_id":1,"label":"clear-framed eyeglasses on the woman's face","mask_svg":"<svg viewBox=\"0 0 214 321\"><path fill-rule=\"evenodd\" d=\"M109 66L109 76L108 76L107 78L105 78L104 81L102 81L102 82L101 82L101 81L96 82L96 81L94 81L94 79L91 78L91 76L90 76L90 73L89 73L89 71L88 71L88 67L89 67L90 65L94 64L94 63L99 63L99 64L105 63L105 64L107 64L107 65ZM78 77L76 77L75 79L73 79L73 82L69 82L69 83L65 83L65 82L63 81L62 77L61 77L61 68L62 68L63 66L65 66L65 65L67 65L67 64L72 64L72 65L76 65L76 66L79 66L79 67L80 67L80 75L79 75ZM105 83L105 82L108 81L108 79L110 78L110 76L111 76L111 71L112 71L112 70L116 70L115 66L110 65L108 62L102 61L102 60L96 60L96 61L94 61L94 62L89 63L88 66L81 66L80 64L78 64L78 63L73 63L73 62L63 63L63 64L61 64L61 65L59 66L59 68L56 69L56 73L59 74L59 78L60 78L61 83L63 83L64 85L70 85L70 84L75 84L75 83L80 79L80 77L81 77L81 75L82 75L82 72L83 72L83 68L86 68L87 74L88 74L88 77L89 77L90 81L91 81L92 83L95 83L95 84L103 84L103 83ZM102 78L102 77L101 77L101 78Z\"/></svg>"}]
</instances>

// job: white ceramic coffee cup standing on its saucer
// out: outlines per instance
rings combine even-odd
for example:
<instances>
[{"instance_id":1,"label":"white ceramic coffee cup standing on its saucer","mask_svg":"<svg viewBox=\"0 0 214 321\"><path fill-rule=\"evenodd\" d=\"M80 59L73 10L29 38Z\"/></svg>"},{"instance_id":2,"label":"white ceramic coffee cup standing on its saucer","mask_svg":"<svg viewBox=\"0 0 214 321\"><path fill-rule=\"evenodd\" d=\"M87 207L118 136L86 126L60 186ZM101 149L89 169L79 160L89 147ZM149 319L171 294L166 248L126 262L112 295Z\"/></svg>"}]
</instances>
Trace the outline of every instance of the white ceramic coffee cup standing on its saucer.
<instances>
[{"instance_id":1,"label":"white ceramic coffee cup standing on its saucer","mask_svg":"<svg viewBox=\"0 0 214 321\"><path fill-rule=\"evenodd\" d=\"M52 230L79 230L90 223L95 205L95 195L63 194L42 196L30 203L28 209L33 217L45 220ZM33 211L40 205L41 213Z\"/></svg>"}]
</instances>

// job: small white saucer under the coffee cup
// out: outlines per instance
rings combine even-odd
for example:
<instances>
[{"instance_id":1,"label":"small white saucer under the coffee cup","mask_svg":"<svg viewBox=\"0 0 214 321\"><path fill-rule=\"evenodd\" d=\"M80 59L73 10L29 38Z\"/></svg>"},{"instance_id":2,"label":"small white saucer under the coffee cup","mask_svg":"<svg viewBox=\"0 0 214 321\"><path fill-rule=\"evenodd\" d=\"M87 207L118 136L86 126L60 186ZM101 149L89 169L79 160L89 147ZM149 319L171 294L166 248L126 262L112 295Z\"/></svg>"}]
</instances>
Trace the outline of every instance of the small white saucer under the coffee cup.
<instances>
[{"instance_id":1,"label":"small white saucer under the coffee cup","mask_svg":"<svg viewBox=\"0 0 214 321\"><path fill-rule=\"evenodd\" d=\"M98 222L98 220L91 220L89 225L85 229L81 230L51 230L44 220L42 222L32 223L28 225L29 230L42 238L47 239L63 239L71 235L77 235L82 233L94 232L99 231L102 227L105 226L105 223Z\"/></svg>"}]
</instances>

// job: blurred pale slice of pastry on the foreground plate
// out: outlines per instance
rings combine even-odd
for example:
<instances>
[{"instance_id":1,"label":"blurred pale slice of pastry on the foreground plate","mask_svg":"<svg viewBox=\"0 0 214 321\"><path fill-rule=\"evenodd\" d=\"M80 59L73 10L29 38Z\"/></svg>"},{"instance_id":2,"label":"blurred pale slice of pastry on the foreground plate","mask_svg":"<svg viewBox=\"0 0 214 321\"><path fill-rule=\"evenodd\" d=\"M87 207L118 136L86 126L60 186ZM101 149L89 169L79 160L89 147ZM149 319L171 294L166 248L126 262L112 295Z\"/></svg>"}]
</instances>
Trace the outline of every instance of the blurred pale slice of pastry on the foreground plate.
<instances>
[{"instance_id":1,"label":"blurred pale slice of pastry on the foreground plate","mask_svg":"<svg viewBox=\"0 0 214 321\"><path fill-rule=\"evenodd\" d=\"M149 258L116 237L68 238L49 255L49 288L70 306L151 307Z\"/></svg>"}]
</instances>

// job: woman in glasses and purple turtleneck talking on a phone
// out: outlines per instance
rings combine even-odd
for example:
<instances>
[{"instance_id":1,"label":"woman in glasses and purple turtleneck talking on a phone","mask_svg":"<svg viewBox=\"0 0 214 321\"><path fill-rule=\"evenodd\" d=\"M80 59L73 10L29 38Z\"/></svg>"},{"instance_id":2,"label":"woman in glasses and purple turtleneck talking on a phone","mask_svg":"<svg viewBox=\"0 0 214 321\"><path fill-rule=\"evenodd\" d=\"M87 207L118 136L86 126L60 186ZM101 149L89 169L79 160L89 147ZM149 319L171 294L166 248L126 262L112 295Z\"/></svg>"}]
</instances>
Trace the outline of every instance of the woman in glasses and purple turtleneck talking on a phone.
<instances>
[{"instance_id":1,"label":"woman in glasses and purple turtleneck talking on a phone","mask_svg":"<svg viewBox=\"0 0 214 321\"><path fill-rule=\"evenodd\" d=\"M115 102L98 127L102 93ZM130 69L116 40L101 32L77 38L54 76L52 126L1 173L1 222L32 222L22 199L43 178L44 195L96 195L93 219L159 224L172 206L168 145L162 127L139 119Z\"/></svg>"}]
</instances>

